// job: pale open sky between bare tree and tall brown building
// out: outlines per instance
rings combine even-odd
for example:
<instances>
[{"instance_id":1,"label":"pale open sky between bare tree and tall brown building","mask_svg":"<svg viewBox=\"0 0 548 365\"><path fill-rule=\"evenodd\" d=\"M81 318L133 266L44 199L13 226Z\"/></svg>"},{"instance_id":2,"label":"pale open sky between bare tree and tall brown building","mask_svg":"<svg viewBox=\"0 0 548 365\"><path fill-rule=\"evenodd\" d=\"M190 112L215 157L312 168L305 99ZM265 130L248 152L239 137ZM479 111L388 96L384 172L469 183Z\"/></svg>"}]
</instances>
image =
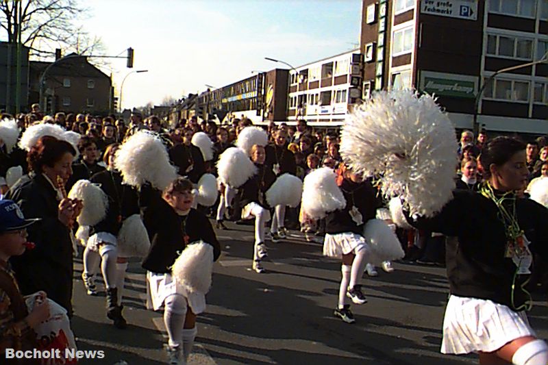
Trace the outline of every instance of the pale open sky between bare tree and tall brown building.
<instances>
[{"instance_id":1,"label":"pale open sky between bare tree and tall brown building","mask_svg":"<svg viewBox=\"0 0 548 365\"><path fill-rule=\"evenodd\" d=\"M299 66L356 47L360 0L92 0L84 27L100 36L112 55L135 49L123 107L160 103L221 87L251 71L284 67L264 57ZM125 53L123 53L125 54ZM113 60L119 90L129 71Z\"/></svg>"}]
</instances>

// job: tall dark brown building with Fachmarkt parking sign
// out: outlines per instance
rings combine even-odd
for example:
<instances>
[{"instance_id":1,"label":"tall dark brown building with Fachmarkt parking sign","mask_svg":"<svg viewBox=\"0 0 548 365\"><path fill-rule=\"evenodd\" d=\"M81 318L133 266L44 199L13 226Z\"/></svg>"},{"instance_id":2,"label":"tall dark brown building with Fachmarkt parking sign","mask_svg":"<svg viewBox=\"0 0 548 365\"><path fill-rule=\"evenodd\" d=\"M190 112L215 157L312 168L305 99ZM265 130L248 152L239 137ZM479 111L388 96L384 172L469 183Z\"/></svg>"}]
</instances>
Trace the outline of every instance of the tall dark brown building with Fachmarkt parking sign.
<instances>
[{"instance_id":1,"label":"tall dark brown building with Fachmarkt parking sign","mask_svg":"<svg viewBox=\"0 0 548 365\"><path fill-rule=\"evenodd\" d=\"M458 128L548 134L547 44L548 0L363 0L363 96L415 88Z\"/></svg>"}]
</instances>

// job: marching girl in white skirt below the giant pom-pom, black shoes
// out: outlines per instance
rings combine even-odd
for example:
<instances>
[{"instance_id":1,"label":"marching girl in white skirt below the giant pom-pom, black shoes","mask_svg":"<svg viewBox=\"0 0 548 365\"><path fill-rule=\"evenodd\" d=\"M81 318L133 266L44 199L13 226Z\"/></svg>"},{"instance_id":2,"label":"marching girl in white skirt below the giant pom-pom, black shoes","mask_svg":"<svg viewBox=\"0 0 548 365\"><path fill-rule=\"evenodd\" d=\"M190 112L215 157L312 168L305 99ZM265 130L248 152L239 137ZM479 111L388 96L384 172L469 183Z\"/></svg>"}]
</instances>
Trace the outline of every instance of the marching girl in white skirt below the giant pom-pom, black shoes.
<instances>
[{"instance_id":1,"label":"marching girl in white skirt below the giant pom-pom, black shoes","mask_svg":"<svg viewBox=\"0 0 548 365\"><path fill-rule=\"evenodd\" d=\"M343 262L340 268L343 276L334 316L346 323L354 323L356 320L347 298L356 304L367 301L360 281L370 249L362 233L365 223L375 218L380 201L371 183L364 181L361 175L353 173L344 165L339 168L337 185L343 192L347 205L342 210L327 214L323 254L340 258Z\"/></svg>"}]
</instances>

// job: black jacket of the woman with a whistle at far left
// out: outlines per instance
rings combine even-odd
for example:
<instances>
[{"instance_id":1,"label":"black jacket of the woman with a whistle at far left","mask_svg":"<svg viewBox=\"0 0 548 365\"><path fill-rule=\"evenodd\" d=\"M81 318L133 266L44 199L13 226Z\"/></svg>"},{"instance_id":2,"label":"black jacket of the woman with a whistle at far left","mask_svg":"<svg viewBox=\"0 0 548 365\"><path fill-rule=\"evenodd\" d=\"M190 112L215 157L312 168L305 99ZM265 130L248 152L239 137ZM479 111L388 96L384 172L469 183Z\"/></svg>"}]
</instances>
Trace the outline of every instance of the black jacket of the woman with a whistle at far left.
<instances>
[{"instance_id":1,"label":"black jacket of the woman with a whistle at far left","mask_svg":"<svg viewBox=\"0 0 548 365\"><path fill-rule=\"evenodd\" d=\"M8 192L25 218L42 218L27 228L33 250L14 256L11 262L25 295L44 290L72 315L73 244L69 228L58 220L57 193L42 174L21 181Z\"/></svg>"}]
</instances>

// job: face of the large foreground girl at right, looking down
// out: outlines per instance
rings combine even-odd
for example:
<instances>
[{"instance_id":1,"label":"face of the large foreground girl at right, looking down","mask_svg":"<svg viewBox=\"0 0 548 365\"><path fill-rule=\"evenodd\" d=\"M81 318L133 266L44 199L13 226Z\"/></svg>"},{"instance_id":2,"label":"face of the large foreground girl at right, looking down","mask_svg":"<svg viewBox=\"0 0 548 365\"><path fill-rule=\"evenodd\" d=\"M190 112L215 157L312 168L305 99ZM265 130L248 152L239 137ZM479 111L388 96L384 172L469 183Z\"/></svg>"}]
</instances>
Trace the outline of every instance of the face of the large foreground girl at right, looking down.
<instances>
[{"instance_id":1,"label":"face of the large foreground girl at right, looking down","mask_svg":"<svg viewBox=\"0 0 548 365\"><path fill-rule=\"evenodd\" d=\"M512 158L501 166L491 164L489 166L491 180L497 182L499 190L510 191L519 190L524 184L527 184L527 161L525 160L525 151L519 151L512 155Z\"/></svg>"}]
</instances>

